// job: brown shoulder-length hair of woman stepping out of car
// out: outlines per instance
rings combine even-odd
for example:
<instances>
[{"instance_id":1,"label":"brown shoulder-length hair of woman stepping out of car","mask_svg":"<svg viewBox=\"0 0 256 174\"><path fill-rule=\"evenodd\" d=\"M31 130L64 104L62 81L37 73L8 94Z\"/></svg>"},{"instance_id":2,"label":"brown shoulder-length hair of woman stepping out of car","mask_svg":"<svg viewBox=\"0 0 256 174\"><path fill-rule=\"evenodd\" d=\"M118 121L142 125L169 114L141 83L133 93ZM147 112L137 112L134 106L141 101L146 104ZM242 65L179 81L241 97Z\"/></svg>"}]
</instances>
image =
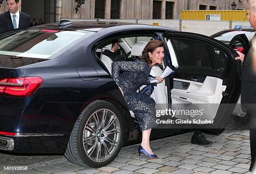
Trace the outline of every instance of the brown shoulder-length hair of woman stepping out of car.
<instances>
[{"instance_id":1,"label":"brown shoulder-length hair of woman stepping out of car","mask_svg":"<svg viewBox=\"0 0 256 174\"><path fill-rule=\"evenodd\" d=\"M153 53L153 51L158 47L164 47L164 43L160 40L150 40L148 44L145 46L145 48L143 49L142 55L139 57L141 61L150 65L152 61L148 55L148 52Z\"/></svg>"}]
</instances>

